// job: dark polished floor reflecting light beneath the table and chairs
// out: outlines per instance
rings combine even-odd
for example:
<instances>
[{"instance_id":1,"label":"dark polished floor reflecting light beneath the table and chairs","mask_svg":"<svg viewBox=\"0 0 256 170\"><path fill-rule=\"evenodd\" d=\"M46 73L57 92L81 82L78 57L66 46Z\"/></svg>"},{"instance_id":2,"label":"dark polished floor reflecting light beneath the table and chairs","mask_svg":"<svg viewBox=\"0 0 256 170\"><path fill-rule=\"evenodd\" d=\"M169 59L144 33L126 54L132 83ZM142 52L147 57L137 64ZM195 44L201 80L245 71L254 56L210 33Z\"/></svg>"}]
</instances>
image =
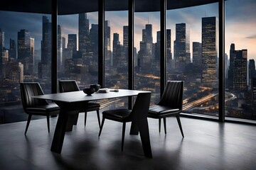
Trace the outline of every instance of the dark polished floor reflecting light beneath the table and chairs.
<instances>
[{"instance_id":1,"label":"dark polished floor reflecting light beneath the table and chairs","mask_svg":"<svg viewBox=\"0 0 256 170\"><path fill-rule=\"evenodd\" d=\"M236 123L167 118L167 135L149 119L153 159L144 157L139 136L127 124L121 152L122 123L105 120L100 138L95 113L80 113L73 132L66 132L61 154L50 152L57 118L0 125L0 169L256 169L256 127Z\"/></svg>"}]
</instances>

